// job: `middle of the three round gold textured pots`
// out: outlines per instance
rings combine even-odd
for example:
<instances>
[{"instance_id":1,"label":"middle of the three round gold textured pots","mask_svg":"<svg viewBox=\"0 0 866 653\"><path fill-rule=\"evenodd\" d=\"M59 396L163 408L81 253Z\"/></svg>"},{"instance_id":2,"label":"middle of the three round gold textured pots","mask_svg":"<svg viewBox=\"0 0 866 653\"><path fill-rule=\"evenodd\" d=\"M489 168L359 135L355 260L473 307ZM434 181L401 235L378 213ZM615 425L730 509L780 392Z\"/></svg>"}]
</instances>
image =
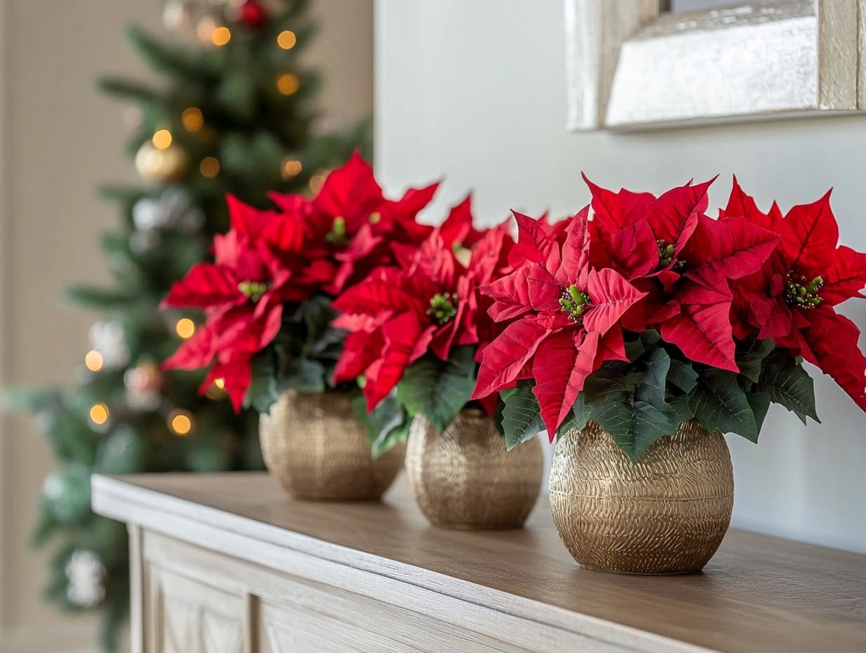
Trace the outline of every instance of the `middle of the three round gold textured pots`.
<instances>
[{"instance_id":1,"label":"middle of the three round gold textured pots","mask_svg":"<svg viewBox=\"0 0 866 653\"><path fill-rule=\"evenodd\" d=\"M418 507L435 526L522 526L538 499L543 467L538 438L509 452L481 410L462 410L443 434L421 415L412 421L406 472Z\"/></svg>"}]
</instances>

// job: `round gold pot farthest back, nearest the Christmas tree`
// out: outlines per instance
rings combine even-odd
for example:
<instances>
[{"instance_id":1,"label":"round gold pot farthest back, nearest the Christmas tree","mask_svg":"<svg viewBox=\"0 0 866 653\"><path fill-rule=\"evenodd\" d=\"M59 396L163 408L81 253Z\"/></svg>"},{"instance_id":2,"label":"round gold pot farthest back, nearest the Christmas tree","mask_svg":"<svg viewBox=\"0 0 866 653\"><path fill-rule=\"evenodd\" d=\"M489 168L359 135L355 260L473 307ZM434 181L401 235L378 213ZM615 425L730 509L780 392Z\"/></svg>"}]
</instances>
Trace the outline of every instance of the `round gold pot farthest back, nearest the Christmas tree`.
<instances>
[{"instance_id":1,"label":"round gold pot farthest back, nearest the Christmas tree","mask_svg":"<svg viewBox=\"0 0 866 653\"><path fill-rule=\"evenodd\" d=\"M376 500L403 465L405 445L374 459L346 394L288 390L259 422L268 471L299 499Z\"/></svg>"}]
</instances>

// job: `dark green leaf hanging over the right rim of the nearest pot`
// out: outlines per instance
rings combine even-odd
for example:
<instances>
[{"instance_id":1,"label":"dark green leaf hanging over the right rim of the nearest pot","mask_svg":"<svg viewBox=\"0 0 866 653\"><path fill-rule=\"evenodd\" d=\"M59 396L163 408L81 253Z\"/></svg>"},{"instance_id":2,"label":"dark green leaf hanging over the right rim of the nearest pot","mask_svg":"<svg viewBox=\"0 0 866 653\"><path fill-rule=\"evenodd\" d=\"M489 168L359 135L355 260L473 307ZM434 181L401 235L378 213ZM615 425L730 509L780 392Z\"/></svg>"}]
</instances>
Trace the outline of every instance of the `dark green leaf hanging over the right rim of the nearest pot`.
<instances>
[{"instance_id":1,"label":"dark green leaf hanging over the right rim of the nearest pot","mask_svg":"<svg viewBox=\"0 0 866 653\"><path fill-rule=\"evenodd\" d=\"M688 408L708 431L735 433L758 441L758 426L737 375L724 369L703 369L695 389L688 395Z\"/></svg>"}]
</instances>

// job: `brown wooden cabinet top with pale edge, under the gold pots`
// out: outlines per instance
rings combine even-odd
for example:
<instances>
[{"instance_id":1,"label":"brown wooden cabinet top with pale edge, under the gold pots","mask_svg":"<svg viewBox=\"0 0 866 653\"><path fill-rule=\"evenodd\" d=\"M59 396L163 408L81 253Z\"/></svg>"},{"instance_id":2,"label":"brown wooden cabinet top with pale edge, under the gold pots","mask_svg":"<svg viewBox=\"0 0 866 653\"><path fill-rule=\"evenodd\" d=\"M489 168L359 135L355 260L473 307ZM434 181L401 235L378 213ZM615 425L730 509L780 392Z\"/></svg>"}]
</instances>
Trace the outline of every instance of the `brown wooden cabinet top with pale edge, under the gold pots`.
<instances>
[{"instance_id":1,"label":"brown wooden cabinet top with pale edge, under the gold pots","mask_svg":"<svg viewBox=\"0 0 866 653\"><path fill-rule=\"evenodd\" d=\"M520 617L626 650L866 650L866 557L745 532L729 532L701 574L650 578L579 568L546 501L524 530L446 531L402 480L382 504L345 504L291 500L259 473L94 477L94 507L353 592L426 592L470 622L475 605L485 620Z\"/></svg>"}]
</instances>

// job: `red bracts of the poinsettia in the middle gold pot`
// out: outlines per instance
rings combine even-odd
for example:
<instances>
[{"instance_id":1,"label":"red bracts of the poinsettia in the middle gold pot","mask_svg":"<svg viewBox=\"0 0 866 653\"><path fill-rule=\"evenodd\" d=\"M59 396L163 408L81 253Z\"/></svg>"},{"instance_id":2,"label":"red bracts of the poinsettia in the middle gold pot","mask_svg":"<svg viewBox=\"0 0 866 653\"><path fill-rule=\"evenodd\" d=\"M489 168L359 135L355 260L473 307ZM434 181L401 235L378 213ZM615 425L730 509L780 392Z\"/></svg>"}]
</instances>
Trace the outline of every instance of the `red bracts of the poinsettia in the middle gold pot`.
<instances>
[{"instance_id":1,"label":"red bracts of the poinsettia in the middle gold pot","mask_svg":"<svg viewBox=\"0 0 866 653\"><path fill-rule=\"evenodd\" d=\"M429 351L447 361L452 346L482 349L493 337L478 288L507 270L513 241L507 225L476 232L471 219L467 199L419 248L395 245L397 265L373 271L334 300L342 314L334 326L350 332L334 381L363 375L369 410Z\"/></svg>"}]
</instances>

